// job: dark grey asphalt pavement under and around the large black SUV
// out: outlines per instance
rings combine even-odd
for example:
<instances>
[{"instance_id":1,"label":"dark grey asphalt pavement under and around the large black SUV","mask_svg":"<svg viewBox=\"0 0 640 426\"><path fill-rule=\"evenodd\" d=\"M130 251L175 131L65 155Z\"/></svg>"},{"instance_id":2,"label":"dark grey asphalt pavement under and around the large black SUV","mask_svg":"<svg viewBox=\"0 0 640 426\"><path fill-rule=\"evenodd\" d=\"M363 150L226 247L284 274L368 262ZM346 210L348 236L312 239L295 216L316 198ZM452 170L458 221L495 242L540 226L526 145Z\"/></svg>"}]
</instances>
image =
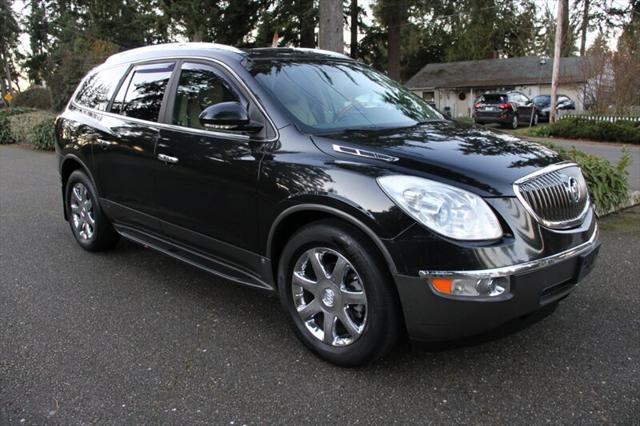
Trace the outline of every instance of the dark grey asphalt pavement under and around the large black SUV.
<instances>
[{"instance_id":1,"label":"dark grey asphalt pavement under and around the large black SUV","mask_svg":"<svg viewBox=\"0 0 640 426\"><path fill-rule=\"evenodd\" d=\"M82 251L54 167L0 147L0 424L640 418L639 209L603 221L598 268L553 315L349 370L310 355L275 299L129 243Z\"/></svg>"}]
</instances>

